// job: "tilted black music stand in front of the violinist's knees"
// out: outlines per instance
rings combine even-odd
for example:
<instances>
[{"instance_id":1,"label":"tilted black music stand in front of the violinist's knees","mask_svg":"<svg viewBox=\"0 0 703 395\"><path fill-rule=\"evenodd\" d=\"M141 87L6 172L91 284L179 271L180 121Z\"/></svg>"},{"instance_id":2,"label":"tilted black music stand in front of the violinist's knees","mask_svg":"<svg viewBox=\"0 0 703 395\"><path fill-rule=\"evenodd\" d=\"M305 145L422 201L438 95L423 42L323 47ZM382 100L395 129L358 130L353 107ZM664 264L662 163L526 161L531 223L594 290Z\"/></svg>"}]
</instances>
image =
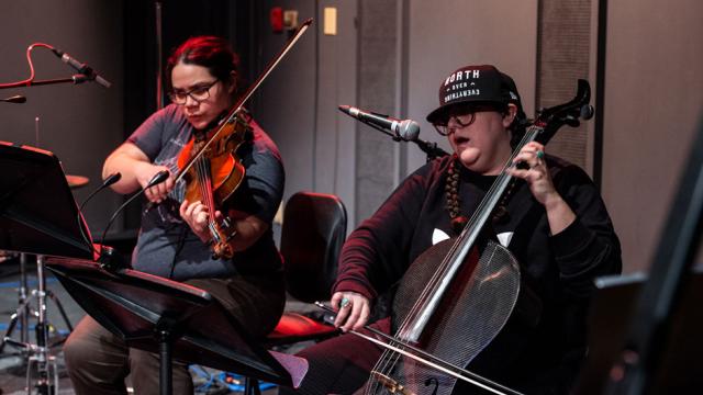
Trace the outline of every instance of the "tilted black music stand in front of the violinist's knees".
<instances>
[{"instance_id":1,"label":"tilted black music stand in front of the violinist's knees","mask_svg":"<svg viewBox=\"0 0 703 395\"><path fill-rule=\"evenodd\" d=\"M205 291L88 260L46 263L100 325L130 347L159 353L161 394L171 393L171 357L286 386L298 386L308 371L304 359L261 348Z\"/></svg>"}]
</instances>

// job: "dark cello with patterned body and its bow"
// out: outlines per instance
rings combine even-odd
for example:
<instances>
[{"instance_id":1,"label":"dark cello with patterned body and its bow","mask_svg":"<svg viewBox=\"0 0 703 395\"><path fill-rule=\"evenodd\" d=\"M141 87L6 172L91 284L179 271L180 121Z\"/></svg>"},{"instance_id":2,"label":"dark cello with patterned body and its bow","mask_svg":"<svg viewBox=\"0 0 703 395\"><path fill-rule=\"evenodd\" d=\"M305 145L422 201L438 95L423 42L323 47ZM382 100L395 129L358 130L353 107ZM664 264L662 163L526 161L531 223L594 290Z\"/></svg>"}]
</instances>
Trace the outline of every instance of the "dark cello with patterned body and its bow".
<instances>
[{"instance_id":1,"label":"dark cello with patterned body and its bow","mask_svg":"<svg viewBox=\"0 0 703 395\"><path fill-rule=\"evenodd\" d=\"M388 342L355 332L386 348L366 394L448 395L457 380L495 394L518 394L464 369L501 331L521 294L517 260L481 233L512 181L506 170L517 153L531 142L546 144L565 124L576 127L580 117L589 119L589 100L590 86L579 80L574 99L543 110L460 235L431 247L410 266L393 300L394 335L382 336Z\"/></svg>"}]
</instances>

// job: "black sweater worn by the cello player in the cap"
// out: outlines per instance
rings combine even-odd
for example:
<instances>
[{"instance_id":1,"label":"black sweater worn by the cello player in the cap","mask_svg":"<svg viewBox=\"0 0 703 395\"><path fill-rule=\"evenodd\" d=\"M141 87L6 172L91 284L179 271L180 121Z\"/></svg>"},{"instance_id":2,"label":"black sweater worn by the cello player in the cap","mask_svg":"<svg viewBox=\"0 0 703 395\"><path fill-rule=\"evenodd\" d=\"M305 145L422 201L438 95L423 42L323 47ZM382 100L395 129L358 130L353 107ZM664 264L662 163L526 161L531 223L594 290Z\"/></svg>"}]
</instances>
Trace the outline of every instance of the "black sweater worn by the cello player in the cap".
<instances>
[{"instance_id":1,"label":"black sweater worn by the cello player in the cap","mask_svg":"<svg viewBox=\"0 0 703 395\"><path fill-rule=\"evenodd\" d=\"M563 392L570 385L583 357L593 279L622 268L620 242L593 182L577 166L556 157L546 159L557 191L577 219L551 235L544 206L525 182L516 184L507 217L492 224L492 232L514 232L507 248L540 308L531 317L536 324L511 319L496 338L501 341L475 361L477 371L494 380L540 393ZM354 291L373 298L401 281L409 266L433 245L435 228L456 236L445 208L449 160L436 159L408 177L352 233L342 250L335 292ZM468 217L495 177L460 168L460 211ZM505 358L506 351L511 358Z\"/></svg>"}]
</instances>

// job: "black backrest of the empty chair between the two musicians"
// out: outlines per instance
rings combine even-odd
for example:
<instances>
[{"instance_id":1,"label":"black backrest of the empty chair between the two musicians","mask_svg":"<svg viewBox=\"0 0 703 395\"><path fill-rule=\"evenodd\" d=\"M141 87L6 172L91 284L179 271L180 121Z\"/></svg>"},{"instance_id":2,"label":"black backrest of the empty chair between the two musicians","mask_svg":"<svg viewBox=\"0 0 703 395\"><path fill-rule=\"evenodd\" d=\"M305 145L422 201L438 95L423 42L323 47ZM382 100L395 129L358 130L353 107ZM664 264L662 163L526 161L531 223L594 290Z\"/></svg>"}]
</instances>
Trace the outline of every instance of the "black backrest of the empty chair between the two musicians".
<instances>
[{"instance_id":1,"label":"black backrest of the empty chair between the two musicians","mask_svg":"<svg viewBox=\"0 0 703 395\"><path fill-rule=\"evenodd\" d=\"M332 194L298 192L283 208L280 250L288 293L299 301L326 301L346 238L347 212Z\"/></svg>"}]
</instances>

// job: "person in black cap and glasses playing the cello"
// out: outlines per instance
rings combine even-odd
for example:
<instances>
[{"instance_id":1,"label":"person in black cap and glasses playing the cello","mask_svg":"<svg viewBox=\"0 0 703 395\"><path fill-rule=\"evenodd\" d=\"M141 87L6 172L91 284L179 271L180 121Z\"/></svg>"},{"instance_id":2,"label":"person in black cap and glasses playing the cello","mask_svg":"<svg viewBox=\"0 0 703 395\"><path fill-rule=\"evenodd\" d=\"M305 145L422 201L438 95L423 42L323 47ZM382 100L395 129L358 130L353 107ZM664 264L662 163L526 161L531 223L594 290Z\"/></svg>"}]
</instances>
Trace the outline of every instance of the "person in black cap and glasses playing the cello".
<instances>
[{"instance_id":1,"label":"person in black cap and glasses playing the cello","mask_svg":"<svg viewBox=\"0 0 703 395\"><path fill-rule=\"evenodd\" d=\"M423 251L459 235L509 162L526 124L513 79L493 66L466 66L443 79L439 106L427 121L448 139L453 154L408 177L345 242L331 300L338 309L335 325L343 331L378 338L364 329L372 303L392 295ZM583 170L546 155L536 142L526 144L512 163L506 171L514 188L487 234L514 255L532 296L461 368L526 394L566 394L584 357L592 281L621 271L620 242ZM378 309L371 327L392 335L388 308ZM348 332L304 349L300 356L310 368L294 393L361 393L382 351ZM460 381L454 394L482 391Z\"/></svg>"}]
</instances>

